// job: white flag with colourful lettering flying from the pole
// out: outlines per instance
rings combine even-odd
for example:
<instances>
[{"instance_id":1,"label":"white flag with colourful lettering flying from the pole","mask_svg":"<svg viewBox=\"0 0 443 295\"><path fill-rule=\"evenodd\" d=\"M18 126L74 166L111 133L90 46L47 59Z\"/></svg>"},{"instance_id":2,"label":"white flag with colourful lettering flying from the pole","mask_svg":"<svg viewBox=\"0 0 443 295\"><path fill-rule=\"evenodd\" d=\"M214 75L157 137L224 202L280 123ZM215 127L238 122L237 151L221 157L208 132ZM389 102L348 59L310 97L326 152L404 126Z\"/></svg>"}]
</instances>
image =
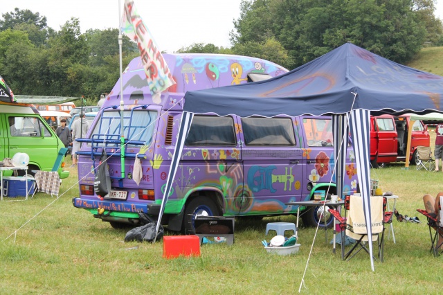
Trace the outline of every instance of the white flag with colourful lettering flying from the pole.
<instances>
[{"instance_id":1,"label":"white flag with colourful lettering flying from the pole","mask_svg":"<svg viewBox=\"0 0 443 295\"><path fill-rule=\"evenodd\" d=\"M168 89L175 82L168 64L166 64L161 51L156 46L150 30L143 24L134 1L125 0L120 30L123 34L137 42L143 68L145 69L147 84L151 90L152 100L155 103L161 102L161 92Z\"/></svg>"}]
</instances>

